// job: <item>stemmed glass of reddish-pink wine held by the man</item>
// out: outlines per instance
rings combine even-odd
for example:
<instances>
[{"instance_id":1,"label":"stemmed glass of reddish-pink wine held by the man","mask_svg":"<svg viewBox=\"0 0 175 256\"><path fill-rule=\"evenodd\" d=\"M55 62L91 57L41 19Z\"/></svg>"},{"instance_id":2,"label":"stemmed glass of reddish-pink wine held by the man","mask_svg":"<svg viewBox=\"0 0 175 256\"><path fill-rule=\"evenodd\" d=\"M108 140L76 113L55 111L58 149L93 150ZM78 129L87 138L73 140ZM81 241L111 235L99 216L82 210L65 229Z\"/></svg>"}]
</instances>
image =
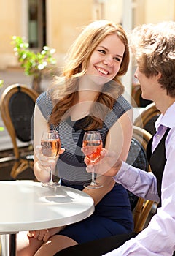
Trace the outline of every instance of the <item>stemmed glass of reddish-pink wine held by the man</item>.
<instances>
[{"instance_id":1,"label":"stemmed glass of reddish-pink wine held by the man","mask_svg":"<svg viewBox=\"0 0 175 256\"><path fill-rule=\"evenodd\" d=\"M100 157L102 140L100 132L88 131L85 132L83 137L82 146L85 148L85 156L94 165L96 160ZM84 187L88 189L98 189L103 187L103 184L99 184L95 180L94 166L92 171L92 181L90 183L85 183Z\"/></svg>"}]
</instances>

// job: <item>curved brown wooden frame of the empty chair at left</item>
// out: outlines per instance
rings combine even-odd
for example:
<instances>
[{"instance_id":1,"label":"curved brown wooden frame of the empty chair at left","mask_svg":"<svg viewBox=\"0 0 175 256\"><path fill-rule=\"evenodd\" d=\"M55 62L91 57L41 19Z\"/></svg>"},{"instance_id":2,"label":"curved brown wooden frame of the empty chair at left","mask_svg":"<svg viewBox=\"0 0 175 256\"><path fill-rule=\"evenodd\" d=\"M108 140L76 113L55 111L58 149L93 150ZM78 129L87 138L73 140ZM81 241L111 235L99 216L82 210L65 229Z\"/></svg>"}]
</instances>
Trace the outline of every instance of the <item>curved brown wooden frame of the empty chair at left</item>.
<instances>
[{"instance_id":1,"label":"curved brown wooden frame of the empty chair at left","mask_svg":"<svg viewBox=\"0 0 175 256\"><path fill-rule=\"evenodd\" d=\"M12 123L12 118L9 114L9 100L11 99L13 94L19 91L19 89L21 92L31 97L31 99L33 99L34 102L36 102L36 98L39 96L39 94L37 94L36 91L30 89L28 86L18 83L8 86L6 89L4 89L1 95L1 118L4 121L4 125L7 128L7 131L9 132L10 138L12 140L13 151L15 154L15 164L13 165L10 173L10 176L12 176L12 178L16 178L18 174L23 172L23 170L26 170L27 167L34 167L34 161L32 159L25 159L24 157L20 156L15 128Z\"/></svg>"}]
</instances>

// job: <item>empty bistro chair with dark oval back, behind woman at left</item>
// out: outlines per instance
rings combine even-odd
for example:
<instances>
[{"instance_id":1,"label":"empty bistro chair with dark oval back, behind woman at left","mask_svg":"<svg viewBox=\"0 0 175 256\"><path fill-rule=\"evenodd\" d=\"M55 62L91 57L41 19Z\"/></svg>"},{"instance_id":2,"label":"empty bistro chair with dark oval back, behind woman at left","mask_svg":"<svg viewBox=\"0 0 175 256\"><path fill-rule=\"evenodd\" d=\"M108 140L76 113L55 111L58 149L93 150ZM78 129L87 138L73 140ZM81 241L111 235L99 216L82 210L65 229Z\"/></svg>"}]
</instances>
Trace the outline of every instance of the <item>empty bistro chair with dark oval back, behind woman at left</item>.
<instances>
[{"instance_id":1,"label":"empty bistro chair with dark oval back, behind woman at left","mask_svg":"<svg viewBox=\"0 0 175 256\"><path fill-rule=\"evenodd\" d=\"M28 147L31 145L31 118L37 97L38 94L34 90L20 84L8 86L1 95L1 117L11 137L15 154L15 164L10 173L12 178L34 166L34 155L22 155L18 140L27 143Z\"/></svg>"}]
</instances>

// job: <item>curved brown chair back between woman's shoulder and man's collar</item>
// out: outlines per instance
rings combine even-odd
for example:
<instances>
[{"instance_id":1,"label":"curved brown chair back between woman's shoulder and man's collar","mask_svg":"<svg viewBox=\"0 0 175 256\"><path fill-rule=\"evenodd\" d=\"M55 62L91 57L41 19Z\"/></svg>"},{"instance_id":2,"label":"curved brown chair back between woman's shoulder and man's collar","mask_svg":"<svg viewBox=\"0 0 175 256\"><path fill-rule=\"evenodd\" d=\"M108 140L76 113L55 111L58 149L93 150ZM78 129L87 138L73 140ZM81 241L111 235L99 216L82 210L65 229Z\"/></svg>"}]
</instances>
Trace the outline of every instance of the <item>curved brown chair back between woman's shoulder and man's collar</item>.
<instances>
[{"instance_id":1,"label":"curved brown chair back between woman's shoulder and man's collar","mask_svg":"<svg viewBox=\"0 0 175 256\"><path fill-rule=\"evenodd\" d=\"M155 121L160 116L160 110L155 107L155 103L147 105L145 110L140 116L136 118L133 124L136 127L142 127L146 129L151 135L155 134Z\"/></svg>"}]
</instances>

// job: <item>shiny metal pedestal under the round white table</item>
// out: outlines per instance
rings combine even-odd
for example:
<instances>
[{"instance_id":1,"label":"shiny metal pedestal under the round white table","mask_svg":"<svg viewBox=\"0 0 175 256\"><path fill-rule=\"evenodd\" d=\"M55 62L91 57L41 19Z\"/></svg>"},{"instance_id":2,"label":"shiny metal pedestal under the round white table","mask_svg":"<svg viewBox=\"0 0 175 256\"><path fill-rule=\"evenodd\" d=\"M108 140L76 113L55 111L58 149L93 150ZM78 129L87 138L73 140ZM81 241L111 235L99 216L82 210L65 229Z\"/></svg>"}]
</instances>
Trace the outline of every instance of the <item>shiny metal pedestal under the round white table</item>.
<instances>
[{"instance_id":1,"label":"shiny metal pedestal under the round white table","mask_svg":"<svg viewBox=\"0 0 175 256\"><path fill-rule=\"evenodd\" d=\"M16 255L16 234L2 234L1 238L1 256Z\"/></svg>"}]
</instances>

